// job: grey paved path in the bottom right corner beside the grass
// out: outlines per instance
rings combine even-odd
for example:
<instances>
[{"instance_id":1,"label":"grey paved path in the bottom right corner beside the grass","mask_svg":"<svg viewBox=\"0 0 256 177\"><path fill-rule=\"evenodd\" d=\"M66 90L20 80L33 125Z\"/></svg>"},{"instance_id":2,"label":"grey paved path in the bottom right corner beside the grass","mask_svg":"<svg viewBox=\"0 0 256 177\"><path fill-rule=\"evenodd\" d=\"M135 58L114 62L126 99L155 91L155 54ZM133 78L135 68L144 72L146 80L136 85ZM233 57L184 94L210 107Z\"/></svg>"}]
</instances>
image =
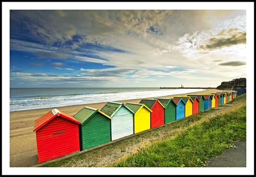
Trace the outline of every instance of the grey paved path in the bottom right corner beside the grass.
<instances>
[{"instance_id":1,"label":"grey paved path in the bottom right corner beside the grass","mask_svg":"<svg viewBox=\"0 0 256 177\"><path fill-rule=\"evenodd\" d=\"M223 155L211 159L207 167L246 167L246 141L234 145L236 148L229 148Z\"/></svg>"}]
</instances>

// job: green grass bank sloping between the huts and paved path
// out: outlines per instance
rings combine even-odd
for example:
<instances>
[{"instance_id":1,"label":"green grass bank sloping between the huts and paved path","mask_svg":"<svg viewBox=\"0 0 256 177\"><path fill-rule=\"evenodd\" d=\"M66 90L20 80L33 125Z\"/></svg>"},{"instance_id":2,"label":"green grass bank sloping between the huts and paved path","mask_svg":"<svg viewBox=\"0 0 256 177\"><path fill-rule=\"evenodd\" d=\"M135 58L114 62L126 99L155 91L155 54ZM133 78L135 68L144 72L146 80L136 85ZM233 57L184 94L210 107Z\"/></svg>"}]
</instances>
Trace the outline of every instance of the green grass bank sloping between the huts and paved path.
<instances>
[{"instance_id":1,"label":"green grass bank sloping between the huts and paved path","mask_svg":"<svg viewBox=\"0 0 256 177\"><path fill-rule=\"evenodd\" d=\"M237 97L234 101L243 99ZM178 135L157 142L114 167L201 167L207 160L232 147L234 141L246 139L246 103L232 112L217 115Z\"/></svg>"}]
</instances>

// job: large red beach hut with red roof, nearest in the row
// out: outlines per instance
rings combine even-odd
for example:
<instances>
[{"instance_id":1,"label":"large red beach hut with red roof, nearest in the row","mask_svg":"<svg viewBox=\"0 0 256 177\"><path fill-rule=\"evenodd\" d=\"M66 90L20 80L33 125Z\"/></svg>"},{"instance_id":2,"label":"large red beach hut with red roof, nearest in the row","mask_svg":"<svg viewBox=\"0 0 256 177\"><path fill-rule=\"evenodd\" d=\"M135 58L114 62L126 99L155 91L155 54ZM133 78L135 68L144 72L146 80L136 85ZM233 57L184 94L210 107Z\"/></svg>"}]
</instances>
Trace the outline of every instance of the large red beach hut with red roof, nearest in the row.
<instances>
[{"instance_id":1,"label":"large red beach hut with red roof, nearest in the row","mask_svg":"<svg viewBox=\"0 0 256 177\"><path fill-rule=\"evenodd\" d=\"M38 162L79 151L80 122L56 108L35 121Z\"/></svg>"}]
</instances>

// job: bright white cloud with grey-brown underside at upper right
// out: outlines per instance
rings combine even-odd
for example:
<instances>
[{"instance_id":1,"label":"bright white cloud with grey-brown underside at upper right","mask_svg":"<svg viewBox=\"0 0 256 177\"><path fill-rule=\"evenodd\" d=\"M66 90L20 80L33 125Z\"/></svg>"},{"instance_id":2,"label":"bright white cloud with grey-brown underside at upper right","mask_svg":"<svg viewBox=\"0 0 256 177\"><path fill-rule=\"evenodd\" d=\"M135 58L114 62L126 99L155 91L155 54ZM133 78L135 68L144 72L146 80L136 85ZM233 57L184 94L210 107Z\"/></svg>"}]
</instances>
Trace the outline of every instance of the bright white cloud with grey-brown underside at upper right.
<instances>
[{"instance_id":1,"label":"bright white cloud with grey-brown underside at upper right","mask_svg":"<svg viewBox=\"0 0 256 177\"><path fill-rule=\"evenodd\" d=\"M192 55L204 55L224 47L228 50L234 45L245 43L246 16L238 16L219 22L215 28L210 30L196 31L192 34L185 33L172 45L172 49L191 57Z\"/></svg>"}]
</instances>

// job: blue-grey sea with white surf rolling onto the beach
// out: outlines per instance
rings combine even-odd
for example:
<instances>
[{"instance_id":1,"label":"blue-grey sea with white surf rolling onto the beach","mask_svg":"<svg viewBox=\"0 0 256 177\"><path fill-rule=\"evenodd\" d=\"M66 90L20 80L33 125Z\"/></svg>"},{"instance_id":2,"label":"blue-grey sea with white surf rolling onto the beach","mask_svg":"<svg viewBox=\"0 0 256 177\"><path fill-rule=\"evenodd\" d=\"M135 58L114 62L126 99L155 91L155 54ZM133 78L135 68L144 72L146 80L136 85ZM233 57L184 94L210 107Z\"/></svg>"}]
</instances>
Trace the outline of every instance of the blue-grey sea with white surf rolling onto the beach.
<instances>
[{"instance_id":1,"label":"blue-grey sea with white surf rolling onto the beach","mask_svg":"<svg viewBox=\"0 0 256 177\"><path fill-rule=\"evenodd\" d=\"M161 97L204 89L130 88L10 88L10 112L82 105L127 99Z\"/></svg>"}]
</instances>

